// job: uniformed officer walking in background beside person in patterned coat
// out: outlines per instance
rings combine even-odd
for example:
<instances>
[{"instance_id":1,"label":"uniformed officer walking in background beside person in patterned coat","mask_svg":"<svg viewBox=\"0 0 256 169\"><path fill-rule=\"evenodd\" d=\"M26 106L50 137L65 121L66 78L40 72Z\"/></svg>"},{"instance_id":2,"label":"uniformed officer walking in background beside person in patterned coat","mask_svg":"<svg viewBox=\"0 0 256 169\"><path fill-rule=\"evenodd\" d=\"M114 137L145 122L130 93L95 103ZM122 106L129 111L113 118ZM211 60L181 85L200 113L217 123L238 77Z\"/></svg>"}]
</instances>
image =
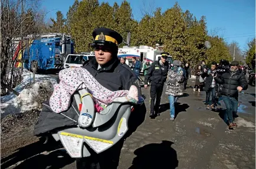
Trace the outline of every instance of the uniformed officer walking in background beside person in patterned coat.
<instances>
[{"instance_id":1,"label":"uniformed officer walking in background beside person in patterned coat","mask_svg":"<svg viewBox=\"0 0 256 169\"><path fill-rule=\"evenodd\" d=\"M167 78L167 73L169 69L169 64L166 59L168 58L168 53L161 53L159 61L153 62L150 66L147 74L145 76L145 84L150 80L150 117L155 117L155 115L160 115L158 112L160 99L163 92L163 85ZM147 88L147 85L144 85ZM154 114L155 111L155 114Z\"/></svg>"}]
</instances>

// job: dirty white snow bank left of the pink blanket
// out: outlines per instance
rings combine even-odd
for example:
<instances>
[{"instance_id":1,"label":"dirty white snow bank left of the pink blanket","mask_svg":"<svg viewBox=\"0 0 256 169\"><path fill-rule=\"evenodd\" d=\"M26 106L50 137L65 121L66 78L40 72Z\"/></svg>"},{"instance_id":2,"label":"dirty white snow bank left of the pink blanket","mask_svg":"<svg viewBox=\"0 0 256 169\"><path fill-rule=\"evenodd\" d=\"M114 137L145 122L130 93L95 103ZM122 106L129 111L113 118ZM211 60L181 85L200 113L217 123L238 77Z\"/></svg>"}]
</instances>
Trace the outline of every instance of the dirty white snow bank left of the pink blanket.
<instances>
[{"instance_id":1,"label":"dirty white snow bank left of the pink blanket","mask_svg":"<svg viewBox=\"0 0 256 169\"><path fill-rule=\"evenodd\" d=\"M1 118L8 114L17 114L31 110L41 110L42 102L50 97L54 90L53 84L57 83L55 78L47 75L35 75L35 83L33 82L32 74L27 70L24 71L22 83L14 89L19 92L17 97L14 94L5 95L1 97Z\"/></svg>"}]
</instances>

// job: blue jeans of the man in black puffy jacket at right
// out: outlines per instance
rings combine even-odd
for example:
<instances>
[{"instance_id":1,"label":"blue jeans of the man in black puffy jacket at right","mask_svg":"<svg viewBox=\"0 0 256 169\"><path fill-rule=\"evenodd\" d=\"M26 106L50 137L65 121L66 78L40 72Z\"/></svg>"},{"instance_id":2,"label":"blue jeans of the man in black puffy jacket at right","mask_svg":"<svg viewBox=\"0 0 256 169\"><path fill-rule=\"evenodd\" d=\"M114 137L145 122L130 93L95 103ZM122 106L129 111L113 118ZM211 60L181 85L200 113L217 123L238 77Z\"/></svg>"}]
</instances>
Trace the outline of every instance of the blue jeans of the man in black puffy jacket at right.
<instances>
[{"instance_id":1,"label":"blue jeans of the man in black puffy jacket at right","mask_svg":"<svg viewBox=\"0 0 256 169\"><path fill-rule=\"evenodd\" d=\"M228 122L234 122L233 113L237 113L238 101L235 97L228 97L225 95L222 95L222 98L227 108L224 120L228 117Z\"/></svg>"}]
</instances>

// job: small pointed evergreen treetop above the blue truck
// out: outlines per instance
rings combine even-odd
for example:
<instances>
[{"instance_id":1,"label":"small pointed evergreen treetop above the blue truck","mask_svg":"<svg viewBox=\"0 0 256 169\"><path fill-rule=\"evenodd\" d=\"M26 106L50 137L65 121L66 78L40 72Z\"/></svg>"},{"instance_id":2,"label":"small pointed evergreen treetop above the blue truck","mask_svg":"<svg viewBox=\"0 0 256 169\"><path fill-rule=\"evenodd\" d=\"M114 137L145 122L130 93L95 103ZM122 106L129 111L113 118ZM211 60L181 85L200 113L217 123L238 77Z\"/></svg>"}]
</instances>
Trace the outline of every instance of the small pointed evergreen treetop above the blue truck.
<instances>
[{"instance_id":1,"label":"small pointed evergreen treetop above the blue truck","mask_svg":"<svg viewBox=\"0 0 256 169\"><path fill-rule=\"evenodd\" d=\"M56 12L56 21L51 18L52 25L50 26L51 32L64 32L65 29L65 22L67 19L64 19L63 14L61 11Z\"/></svg>"}]
</instances>

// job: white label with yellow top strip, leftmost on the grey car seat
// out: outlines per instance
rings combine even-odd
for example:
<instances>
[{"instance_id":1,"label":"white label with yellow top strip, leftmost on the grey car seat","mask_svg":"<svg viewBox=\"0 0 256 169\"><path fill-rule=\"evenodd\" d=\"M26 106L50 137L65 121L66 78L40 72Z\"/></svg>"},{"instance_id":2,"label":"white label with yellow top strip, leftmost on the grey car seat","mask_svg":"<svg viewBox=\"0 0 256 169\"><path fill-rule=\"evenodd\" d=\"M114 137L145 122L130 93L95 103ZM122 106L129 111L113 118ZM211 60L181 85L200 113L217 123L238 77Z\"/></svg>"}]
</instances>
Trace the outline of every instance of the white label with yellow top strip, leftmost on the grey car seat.
<instances>
[{"instance_id":1,"label":"white label with yellow top strip, leftmost on the grey car seat","mask_svg":"<svg viewBox=\"0 0 256 169\"><path fill-rule=\"evenodd\" d=\"M62 143L71 157L79 158L82 155L83 136L61 132Z\"/></svg>"}]
</instances>

